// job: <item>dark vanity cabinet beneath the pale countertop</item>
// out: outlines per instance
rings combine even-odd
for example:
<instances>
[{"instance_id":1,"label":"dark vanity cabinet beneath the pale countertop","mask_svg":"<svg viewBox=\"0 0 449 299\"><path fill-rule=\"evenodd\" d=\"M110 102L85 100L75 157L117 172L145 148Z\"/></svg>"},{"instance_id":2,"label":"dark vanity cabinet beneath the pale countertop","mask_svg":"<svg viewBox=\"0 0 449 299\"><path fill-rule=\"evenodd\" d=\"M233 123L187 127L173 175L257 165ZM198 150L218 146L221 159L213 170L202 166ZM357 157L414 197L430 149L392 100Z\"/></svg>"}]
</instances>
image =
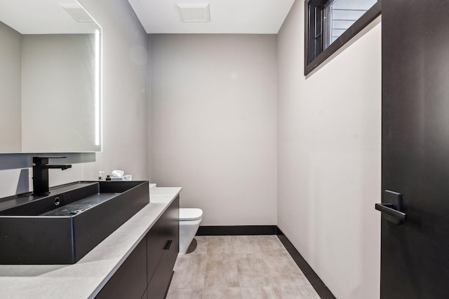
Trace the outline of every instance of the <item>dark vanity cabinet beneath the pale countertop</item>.
<instances>
[{"instance_id":1,"label":"dark vanity cabinet beneath the pale countertop","mask_svg":"<svg viewBox=\"0 0 449 299\"><path fill-rule=\"evenodd\" d=\"M179 250L179 196L109 279L97 299L163 299Z\"/></svg>"}]
</instances>

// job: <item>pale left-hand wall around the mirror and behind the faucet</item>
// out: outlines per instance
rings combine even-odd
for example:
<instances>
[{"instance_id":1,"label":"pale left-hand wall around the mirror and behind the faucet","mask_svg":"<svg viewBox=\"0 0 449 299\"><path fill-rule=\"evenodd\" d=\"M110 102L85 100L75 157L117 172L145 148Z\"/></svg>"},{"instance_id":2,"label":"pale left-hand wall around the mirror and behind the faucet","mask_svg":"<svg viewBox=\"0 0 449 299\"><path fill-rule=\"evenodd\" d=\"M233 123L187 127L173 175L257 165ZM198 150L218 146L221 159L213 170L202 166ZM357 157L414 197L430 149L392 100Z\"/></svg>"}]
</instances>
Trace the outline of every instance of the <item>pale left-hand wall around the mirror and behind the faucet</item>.
<instances>
[{"instance_id":1,"label":"pale left-hand wall around the mirror and behind the faucet","mask_svg":"<svg viewBox=\"0 0 449 299\"><path fill-rule=\"evenodd\" d=\"M110 173L114 169L133 174L133 179L148 179L148 36L126 0L80 3L103 29L103 151L96 154L95 162L75 164L64 171L51 169L50 185L97 179L98 170ZM14 169L14 165L0 165L0 169L0 197L14 194L19 169Z\"/></svg>"}]
</instances>

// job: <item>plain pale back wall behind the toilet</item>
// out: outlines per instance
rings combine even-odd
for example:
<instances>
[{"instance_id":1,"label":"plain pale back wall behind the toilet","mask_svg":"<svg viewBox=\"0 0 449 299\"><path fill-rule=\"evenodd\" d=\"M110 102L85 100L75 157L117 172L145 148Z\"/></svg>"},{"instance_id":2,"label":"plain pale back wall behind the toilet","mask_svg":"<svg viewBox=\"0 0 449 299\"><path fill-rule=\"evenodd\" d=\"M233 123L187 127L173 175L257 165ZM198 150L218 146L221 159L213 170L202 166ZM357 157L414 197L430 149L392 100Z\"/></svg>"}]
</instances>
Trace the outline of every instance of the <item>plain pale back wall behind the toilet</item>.
<instances>
[{"instance_id":1,"label":"plain pale back wall behind the toilet","mask_svg":"<svg viewBox=\"0 0 449 299\"><path fill-rule=\"evenodd\" d=\"M151 36L152 181L201 225L276 224L276 36Z\"/></svg>"}]
</instances>

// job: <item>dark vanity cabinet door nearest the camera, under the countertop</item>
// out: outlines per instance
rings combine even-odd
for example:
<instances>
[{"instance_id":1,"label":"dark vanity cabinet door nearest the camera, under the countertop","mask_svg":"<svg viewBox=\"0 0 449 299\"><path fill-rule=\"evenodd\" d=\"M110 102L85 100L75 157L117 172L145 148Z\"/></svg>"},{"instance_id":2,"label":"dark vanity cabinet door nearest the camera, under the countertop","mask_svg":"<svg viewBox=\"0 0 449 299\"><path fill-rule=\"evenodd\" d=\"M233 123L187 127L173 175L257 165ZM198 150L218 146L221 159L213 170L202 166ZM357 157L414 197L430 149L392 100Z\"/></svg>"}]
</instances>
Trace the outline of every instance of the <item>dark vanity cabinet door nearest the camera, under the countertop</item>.
<instances>
[{"instance_id":1,"label":"dark vanity cabinet door nearest the camera, under the countertop","mask_svg":"<svg viewBox=\"0 0 449 299\"><path fill-rule=\"evenodd\" d=\"M147 240L144 238L95 298L141 299L146 288Z\"/></svg>"}]
</instances>

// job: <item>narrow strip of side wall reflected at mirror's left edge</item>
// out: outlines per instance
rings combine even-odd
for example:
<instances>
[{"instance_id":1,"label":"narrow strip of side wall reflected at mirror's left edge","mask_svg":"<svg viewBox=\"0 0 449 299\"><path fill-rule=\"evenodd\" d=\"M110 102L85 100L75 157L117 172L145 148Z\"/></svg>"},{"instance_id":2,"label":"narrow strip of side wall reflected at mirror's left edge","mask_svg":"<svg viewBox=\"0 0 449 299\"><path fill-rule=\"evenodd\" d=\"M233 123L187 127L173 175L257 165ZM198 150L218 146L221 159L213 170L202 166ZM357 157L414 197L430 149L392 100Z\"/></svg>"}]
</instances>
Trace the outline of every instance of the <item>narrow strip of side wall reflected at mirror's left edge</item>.
<instances>
[{"instance_id":1,"label":"narrow strip of side wall reflected at mirror's left edge","mask_svg":"<svg viewBox=\"0 0 449 299\"><path fill-rule=\"evenodd\" d=\"M21 35L0 22L0 151L20 151Z\"/></svg>"}]
</instances>

